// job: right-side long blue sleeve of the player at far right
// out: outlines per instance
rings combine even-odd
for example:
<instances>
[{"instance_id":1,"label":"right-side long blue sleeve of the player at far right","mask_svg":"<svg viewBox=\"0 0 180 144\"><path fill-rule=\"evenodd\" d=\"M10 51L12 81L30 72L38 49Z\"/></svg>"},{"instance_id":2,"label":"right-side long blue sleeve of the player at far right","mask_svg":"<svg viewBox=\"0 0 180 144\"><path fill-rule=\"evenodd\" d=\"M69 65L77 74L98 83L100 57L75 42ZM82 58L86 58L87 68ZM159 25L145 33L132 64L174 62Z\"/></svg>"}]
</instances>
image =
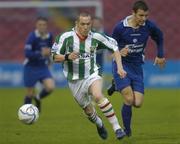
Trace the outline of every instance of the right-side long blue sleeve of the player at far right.
<instances>
[{"instance_id":1,"label":"right-side long blue sleeve of the player at far right","mask_svg":"<svg viewBox=\"0 0 180 144\"><path fill-rule=\"evenodd\" d=\"M150 36L156 42L157 45L157 57L163 58L164 57L164 50L163 50L163 33L153 22L149 22L150 26Z\"/></svg>"}]
</instances>

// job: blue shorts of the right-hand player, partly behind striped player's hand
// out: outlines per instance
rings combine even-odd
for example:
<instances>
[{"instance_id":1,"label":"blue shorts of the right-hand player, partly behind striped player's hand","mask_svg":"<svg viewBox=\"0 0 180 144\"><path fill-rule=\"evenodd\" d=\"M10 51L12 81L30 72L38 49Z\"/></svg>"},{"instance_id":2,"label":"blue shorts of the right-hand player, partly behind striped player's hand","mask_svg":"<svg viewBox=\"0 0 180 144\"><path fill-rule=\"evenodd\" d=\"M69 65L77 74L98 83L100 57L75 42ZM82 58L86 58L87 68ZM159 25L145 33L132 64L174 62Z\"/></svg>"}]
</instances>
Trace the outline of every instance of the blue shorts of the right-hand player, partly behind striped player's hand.
<instances>
[{"instance_id":1,"label":"blue shorts of the right-hand player, partly behind striped player's hand","mask_svg":"<svg viewBox=\"0 0 180 144\"><path fill-rule=\"evenodd\" d=\"M116 62L113 62L113 77L116 90L122 91L130 86L133 91L138 91L144 94L144 78L141 64L123 62L123 68L127 72L125 78L121 79L117 74Z\"/></svg>"}]
</instances>

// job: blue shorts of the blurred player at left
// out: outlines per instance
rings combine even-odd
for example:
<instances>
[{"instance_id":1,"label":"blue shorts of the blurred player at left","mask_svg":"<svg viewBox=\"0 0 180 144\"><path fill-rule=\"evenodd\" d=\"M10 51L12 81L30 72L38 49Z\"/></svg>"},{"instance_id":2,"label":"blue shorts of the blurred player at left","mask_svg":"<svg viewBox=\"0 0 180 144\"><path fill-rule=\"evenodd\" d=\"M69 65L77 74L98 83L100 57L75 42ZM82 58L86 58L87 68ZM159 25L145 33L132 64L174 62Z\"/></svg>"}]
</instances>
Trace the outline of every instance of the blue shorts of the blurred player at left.
<instances>
[{"instance_id":1,"label":"blue shorts of the blurred player at left","mask_svg":"<svg viewBox=\"0 0 180 144\"><path fill-rule=\"evenodd\" d=\"M48 67L24 67L24 85L25 87L34 87L37 82L42 82L47 78L52 78Z\"/></svg>"}]
</instances>

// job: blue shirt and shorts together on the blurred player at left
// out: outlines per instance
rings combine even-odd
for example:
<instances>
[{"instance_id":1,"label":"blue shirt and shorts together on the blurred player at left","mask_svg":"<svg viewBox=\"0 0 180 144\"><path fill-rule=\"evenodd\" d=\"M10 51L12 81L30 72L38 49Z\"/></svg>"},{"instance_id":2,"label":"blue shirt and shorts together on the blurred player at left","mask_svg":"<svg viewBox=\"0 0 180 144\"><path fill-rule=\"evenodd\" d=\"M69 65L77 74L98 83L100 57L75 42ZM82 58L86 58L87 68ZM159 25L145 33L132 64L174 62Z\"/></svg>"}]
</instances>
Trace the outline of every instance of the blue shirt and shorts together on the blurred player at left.
<instances>
[{"instance_id":1,"label":"blue shirt and shorts together on the blurred player at left","mask_svg":"<svg viewBox=\"0 0 180 144\"><path fill-rule=\"evenodd\" d=\"M41 38L38 31L31 32L25 45L24 62L24 85L26 87L34 87L35 84L44 79L52 78L48 68L49 57L41 55L41 49L51 48L53 43L52 34L48 33Z\"/></svg>"}]
</instances>

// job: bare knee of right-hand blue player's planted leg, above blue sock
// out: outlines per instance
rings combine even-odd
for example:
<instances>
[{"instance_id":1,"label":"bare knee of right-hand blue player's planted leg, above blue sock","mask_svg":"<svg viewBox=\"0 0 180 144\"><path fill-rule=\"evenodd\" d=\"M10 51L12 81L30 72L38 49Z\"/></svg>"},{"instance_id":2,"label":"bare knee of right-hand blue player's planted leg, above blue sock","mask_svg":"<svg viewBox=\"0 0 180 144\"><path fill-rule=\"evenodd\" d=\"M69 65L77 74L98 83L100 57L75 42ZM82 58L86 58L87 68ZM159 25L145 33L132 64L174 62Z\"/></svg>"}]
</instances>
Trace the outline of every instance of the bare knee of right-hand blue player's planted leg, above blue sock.
<instances>
[{"instance_id":1,"label":"bare knee of right-hand blue player's planted leg, above blue sock","mask_svg":"<svg viewBox=\"0 0 180 144\"><path fill-rule=\"evenodd\" d=\"M127 86L121 90L125 104L132 105L134 102L133 90L131 86Z\"/></svg>"}]
</instances>

